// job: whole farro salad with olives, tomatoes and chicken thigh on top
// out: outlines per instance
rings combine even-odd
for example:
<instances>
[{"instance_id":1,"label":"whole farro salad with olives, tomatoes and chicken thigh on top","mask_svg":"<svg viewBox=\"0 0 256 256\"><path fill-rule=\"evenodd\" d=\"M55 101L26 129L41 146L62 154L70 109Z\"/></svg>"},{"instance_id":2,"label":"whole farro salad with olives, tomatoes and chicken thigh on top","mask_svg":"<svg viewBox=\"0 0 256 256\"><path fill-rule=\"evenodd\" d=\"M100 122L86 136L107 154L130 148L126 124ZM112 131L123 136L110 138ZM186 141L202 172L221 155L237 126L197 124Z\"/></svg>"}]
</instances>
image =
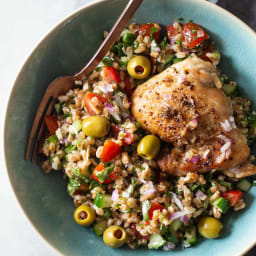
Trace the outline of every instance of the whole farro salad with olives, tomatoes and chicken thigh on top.
<instances>
[{"instance_id":1,"label":"whole farro salad with olives, tomatoes and chicken thigh on top","mask_svg":"<svg viewBox=\"0 0 256 256\"><path fill-rule=\"evenodd\" d=\"M45 117L42 168L64 172L75 221L92 225L108 246L191 247L199 235L221 236L221 217L246 207L243 193L254 184L247 176L256 173L247 146L256 113L218 68L220 57L209 33L192 21L166 30L132 23ZM166 95L170 84L178 89ZM199 86L210 97L192 94ZM227 119L216 102L223 113L230 108Z\"/></svg>"}]
</instances>

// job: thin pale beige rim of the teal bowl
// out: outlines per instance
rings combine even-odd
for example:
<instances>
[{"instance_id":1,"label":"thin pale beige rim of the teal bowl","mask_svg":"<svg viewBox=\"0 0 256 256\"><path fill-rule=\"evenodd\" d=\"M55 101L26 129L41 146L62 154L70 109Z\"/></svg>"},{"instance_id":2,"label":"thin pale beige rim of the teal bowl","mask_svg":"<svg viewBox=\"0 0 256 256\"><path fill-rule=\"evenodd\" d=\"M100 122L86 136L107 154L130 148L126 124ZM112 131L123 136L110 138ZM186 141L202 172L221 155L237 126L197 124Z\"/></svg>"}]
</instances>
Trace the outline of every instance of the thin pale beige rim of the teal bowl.
<instances>
[{"instance_id":1,"label":"thin pale beige rim of the teal bowl","mask_svg":"<svg viewBox=\"0 0 256 256\"><path fill-rule=\"evenodd\" d=\"M47 32L45 35L43 35L40 39L37 40L37 42L34 44L33 49L31 49L31 51L29 52L29 54L24 58L25 61L21 66L20 71L17 73L16 78L14 80L14 83L12 85L12 89L11 92L9 94L8 97L8 103L7 103L7 107L5 109L5 118L4 118L4 131L3 131L3 137L4 137L4 143L3 143L3 152L4 152L4 166L5 166L5 170L7 171L7 176L8 176L8 180L11 184L11 189L14 192L14 196L15 199L18 202L18 205L23 213L23 216L26 217L26 219L28 220L28 222L31 224L32 229L35 231L35 233L38 235L38 237L41 238L42 241L44 241L45 244L47 244L55 253L57 253L58 255L62 255L62 253L58 250L57 247L55 247L54 244L52 244L50 241L48 241L46 239L46 237L44 237L43 234L41 234L40 230L36 227L36 225L30 220L29 216L26 213L26 210L23 208L22 202L18 197L17 192L14 189L14 185L13 182L11 180L9 171L8 171L8 165L7 165L7 151L6 151L6 145L7 145L7 141L6 141L6 133L7 133L7 128L6 128L6 124L7 124L7 113L9 110L9 105L10 105L10 99L12 98L14 91L16 89L16 83L19 79L19 77L22 75L22 73L24 72L25 66L29 63L30 59L32 58L32 55L37 51L37 48L41 45L41 43L47 39L51 34L53 34L55 31L57 31L65 22L67 22L68 20L72 19L74 16L78 15L80 12L82 12L83 10L90 8L92 6L95 5L100 5L103 2L110 2L112 0L93 0L90 3L84 4L83 6L73 10L72 12L68 13L67 15L65 15L62 19L60 19L60 21L56 22L53 27L49 30L49 32ZM126 0L127 1L127 0ZM221 6L218 6L217 4L214 4L213 2L209 2L208 0L185 0L188 2L198 2L202 5L205 5L211 9L215 9L215 11L219 11L220 13L222 13L222 15L229 17L231 19L233 19L234 21L240 23L240 25L242 25L243 29L245 29L249 34L251 34L252 37L254 37L255 41L256 41L256 31L254 31L249 25L247 25L244 21L242 21L240 18L238 18L236 15L232 14L230 11L224 9ZM255 241L250 244L247 248L244 249L244 251L242 251L239 255L244 255L246 254L248 251L250 251L254 246L256 245L256 239Z\"/></svg>"}]
</instances>

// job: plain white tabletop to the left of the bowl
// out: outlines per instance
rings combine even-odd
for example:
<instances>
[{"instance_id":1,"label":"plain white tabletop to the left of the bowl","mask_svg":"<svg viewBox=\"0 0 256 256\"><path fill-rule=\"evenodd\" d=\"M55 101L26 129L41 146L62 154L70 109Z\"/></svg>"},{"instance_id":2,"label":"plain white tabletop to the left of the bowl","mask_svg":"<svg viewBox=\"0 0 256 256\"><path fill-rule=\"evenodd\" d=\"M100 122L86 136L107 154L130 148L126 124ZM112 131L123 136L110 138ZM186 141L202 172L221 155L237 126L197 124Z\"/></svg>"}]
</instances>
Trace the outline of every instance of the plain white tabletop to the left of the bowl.
<instances>
[{"instance_id":1,"label":"plain white tabletop to the left of the bowl","mask_svg":"<svg viewBox=\"0 0 256 256\"><path fill-rule=\"evenodd\" d=\"M0 1L0 250L1 255L53 256L23 214L11 189L3 156L4 117L14 80L44 35L73 10L92 0Z\"/></svg>"}]
</instances>

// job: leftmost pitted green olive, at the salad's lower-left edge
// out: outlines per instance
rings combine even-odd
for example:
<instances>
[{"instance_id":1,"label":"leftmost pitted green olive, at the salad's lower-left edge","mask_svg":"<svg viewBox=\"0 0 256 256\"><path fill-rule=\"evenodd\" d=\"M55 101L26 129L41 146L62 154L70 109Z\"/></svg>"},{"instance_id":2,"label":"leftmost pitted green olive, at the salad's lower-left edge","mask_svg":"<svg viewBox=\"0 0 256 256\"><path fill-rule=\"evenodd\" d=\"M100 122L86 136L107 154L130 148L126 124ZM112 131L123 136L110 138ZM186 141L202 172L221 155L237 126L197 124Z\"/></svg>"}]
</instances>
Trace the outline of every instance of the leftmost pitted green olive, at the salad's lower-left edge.
<instances>
[{"instance_id":1,"label":"leftmost pitted green olive, at the salad's lower-left edge","mask_svg":"<svg viewBox=\"0 0 256 256\"><path fill-rule=\"evenodd\" d=\"M74 219L81 226L90 226L96 218L93 208L88 205L81 205L74 212Z\"/></svg>"}]
</instances>

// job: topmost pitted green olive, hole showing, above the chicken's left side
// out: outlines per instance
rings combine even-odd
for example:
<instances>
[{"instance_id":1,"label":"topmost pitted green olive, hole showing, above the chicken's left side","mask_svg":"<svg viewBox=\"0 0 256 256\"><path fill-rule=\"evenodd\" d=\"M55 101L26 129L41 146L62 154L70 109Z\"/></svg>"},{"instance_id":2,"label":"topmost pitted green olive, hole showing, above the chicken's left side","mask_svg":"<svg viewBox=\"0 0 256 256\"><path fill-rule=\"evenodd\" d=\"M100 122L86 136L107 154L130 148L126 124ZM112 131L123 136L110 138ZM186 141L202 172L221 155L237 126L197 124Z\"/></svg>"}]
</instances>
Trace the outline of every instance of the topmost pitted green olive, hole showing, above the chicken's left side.
<instances>
[{"instance_id":1,"label":"topmost pitted green olive, hole showing, above the chicken's left side","mask_svg":"<svg viewBox=\"0 0 256 256\"><path fill-rule=\"evenodd\" d=\"M133 78L144 79L151 72L151 63L145 56L135 56L128 62L127 71Z\"/></svg>"}]
</instances>

